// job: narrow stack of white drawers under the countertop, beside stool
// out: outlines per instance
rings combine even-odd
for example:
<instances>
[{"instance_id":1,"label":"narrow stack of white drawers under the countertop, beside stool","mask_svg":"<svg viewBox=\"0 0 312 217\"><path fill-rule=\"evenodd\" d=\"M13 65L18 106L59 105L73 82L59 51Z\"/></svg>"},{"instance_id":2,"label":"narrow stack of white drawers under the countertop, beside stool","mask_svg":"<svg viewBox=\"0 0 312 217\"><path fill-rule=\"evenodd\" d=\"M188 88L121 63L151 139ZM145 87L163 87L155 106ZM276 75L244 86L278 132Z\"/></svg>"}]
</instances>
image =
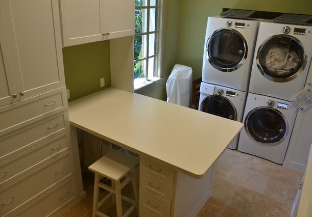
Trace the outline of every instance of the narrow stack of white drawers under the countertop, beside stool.
<instances>
[{"instance_id":1,"label":"narrow stack of white drawers under the countertop, beside stool","mask_svg":"<svg viewBox=\"0 0 312 217\"><path fill-rule=\"evenodd\" d=\"M140 158L139 216L170 216L174 171Z\"/></svg>"}]
</instances>

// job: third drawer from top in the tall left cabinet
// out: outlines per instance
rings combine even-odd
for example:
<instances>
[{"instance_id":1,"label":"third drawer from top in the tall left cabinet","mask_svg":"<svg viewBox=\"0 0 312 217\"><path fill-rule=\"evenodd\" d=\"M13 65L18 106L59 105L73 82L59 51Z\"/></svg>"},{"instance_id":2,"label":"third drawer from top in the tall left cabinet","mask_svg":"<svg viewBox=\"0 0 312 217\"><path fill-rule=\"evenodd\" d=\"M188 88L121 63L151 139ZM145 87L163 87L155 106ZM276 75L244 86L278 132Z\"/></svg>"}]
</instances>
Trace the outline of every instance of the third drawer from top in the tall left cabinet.
<instances>
[{"instance_id":1,"label":"third drawer from top in the tall left cabinet","mask_svg":"<svg viewBox=\"0 0 312 217\"><path fill-rule=\"evenodd\" d=\"M69 131L0 162L0 187L70 149Z\"/></svg>"}]
</instances>

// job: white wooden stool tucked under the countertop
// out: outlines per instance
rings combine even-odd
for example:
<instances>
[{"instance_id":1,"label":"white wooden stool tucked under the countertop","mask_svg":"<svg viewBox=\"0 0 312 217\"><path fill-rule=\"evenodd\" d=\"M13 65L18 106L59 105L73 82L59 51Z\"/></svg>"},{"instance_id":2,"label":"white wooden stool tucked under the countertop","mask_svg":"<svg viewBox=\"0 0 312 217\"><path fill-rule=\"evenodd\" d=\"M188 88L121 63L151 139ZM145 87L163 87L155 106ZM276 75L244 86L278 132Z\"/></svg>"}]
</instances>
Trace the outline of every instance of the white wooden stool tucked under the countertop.
<instances>
[{"instance_id":1,"label":"white wooden stool tucked under the countertop","mask_svg":"<svg viewBox=\"0 0 312 217\"><path fill-rule=\"evenodd\" d=\"M117 217L126 217L135 208L137 208L138 210L138 186L135 176L135 167L138 164L139 160L137 158L112 150L105 156L101 157L99 160L95 161L90 167L88 167L89 170L95 173L92 208L93 217L95 216L95 214L108 217L108 215L98 211L98 209L106 201L108 201L110 197L112 197L113 203L115 197ZM103 177L110 179L112 181L112 186L100 182ZM124 179L121 182L122 178ZM122 196L123 187L130 181L132 181L135 201L125 196ZM109 194L99 202L100 187L109 191ZM124 215L122 210L122 199L132 204Z\"/></svg>"}]
</instances>

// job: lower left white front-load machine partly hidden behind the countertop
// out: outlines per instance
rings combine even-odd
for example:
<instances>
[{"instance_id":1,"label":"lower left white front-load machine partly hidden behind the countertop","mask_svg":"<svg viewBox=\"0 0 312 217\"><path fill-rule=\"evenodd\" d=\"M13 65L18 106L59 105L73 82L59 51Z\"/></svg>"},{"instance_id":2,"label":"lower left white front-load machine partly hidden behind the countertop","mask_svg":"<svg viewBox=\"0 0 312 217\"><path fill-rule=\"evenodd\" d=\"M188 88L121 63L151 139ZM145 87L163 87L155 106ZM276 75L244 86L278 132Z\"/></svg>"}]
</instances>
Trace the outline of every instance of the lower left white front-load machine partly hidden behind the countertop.
<instances>
[{"instance_id":1,"label":"lower left white front-load machine partly hidden behind the countertop","mask_svg":"<svg viewBox=\"0 0 312 217\"><path fill-rule=\"evenodd\" d=\"M246 97L247 93L244 91L202 82L198 110L242 122ZM237 142L238 135L232 140L228 148L236 149Z\"/></svg>"}]
</instances>

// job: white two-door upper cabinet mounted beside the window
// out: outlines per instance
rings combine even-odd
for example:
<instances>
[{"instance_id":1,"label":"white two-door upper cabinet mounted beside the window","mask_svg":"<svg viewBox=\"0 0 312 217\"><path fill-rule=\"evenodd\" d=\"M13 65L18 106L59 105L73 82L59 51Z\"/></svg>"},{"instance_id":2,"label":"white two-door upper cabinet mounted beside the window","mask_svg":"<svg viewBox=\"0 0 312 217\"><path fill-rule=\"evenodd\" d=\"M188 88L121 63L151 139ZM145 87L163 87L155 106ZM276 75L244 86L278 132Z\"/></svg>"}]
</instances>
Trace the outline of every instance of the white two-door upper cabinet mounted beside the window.
<instances>
[{"instance_id":1,"label":"white two-door upper cabinet mounted beside the window","mask_svg":"<svg viewBox=\"0 0 312 217\"><path fill-rule=\"evenodd\" d=\"M60 0L63 45L134 35L134 0Z\"/></svg>"}]
</instances>

